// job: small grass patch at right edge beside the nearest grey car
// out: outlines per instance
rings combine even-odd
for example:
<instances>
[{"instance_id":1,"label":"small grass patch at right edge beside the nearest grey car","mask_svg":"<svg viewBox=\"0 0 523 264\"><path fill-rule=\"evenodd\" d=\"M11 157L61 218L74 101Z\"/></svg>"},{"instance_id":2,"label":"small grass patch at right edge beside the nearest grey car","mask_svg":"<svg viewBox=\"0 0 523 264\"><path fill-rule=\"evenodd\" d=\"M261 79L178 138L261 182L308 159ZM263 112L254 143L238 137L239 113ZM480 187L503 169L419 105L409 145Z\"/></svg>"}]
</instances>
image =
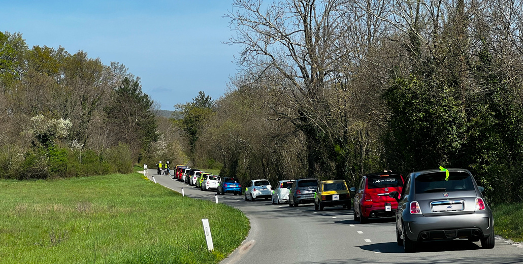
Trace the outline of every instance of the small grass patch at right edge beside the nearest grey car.
<instances>
[{"instance_id":1,"label":"small grass patch at right edge beside the nearest grey car","mask_svg":"<svg viewBox=\"0 0 523 264\"><path fill-rule=\"evenodd\" d=\"M496 235L523 242L523 203L498 204L493 214Z\"/></svg>"}]
</instances>

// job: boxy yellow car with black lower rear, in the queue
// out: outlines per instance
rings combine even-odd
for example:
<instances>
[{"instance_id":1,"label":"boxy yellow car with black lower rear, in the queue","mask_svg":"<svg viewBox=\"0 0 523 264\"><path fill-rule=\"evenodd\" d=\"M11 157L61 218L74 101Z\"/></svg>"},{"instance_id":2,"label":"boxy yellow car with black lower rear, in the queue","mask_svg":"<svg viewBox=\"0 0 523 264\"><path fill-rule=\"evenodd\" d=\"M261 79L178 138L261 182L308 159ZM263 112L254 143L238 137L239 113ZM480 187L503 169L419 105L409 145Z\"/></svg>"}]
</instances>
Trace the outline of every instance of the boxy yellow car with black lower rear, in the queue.
<instances>
[{"instance_id":1,"label":"boxy yellow car with black lower rear, in the queue","mask_svg":"<svg viewBox=\"0 0 523 264\"><path fill-rule=\"evenodd\" d=\"M325 180L318 183L314 194L314 209L323 211L325 206L342 205L350 209L350 193L345 180Z\"/></svg>"}]
</instances>

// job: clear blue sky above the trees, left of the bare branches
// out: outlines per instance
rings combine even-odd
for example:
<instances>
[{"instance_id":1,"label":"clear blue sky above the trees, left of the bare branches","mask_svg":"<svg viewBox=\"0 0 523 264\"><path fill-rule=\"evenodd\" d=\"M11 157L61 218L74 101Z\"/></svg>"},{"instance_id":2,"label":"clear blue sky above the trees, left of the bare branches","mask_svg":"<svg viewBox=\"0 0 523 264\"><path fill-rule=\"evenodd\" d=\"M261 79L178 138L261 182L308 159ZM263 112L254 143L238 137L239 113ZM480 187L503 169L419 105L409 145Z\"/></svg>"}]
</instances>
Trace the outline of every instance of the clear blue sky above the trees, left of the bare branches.
<instances>
[{"instance_id":1,"label":"clear blue sky above the trees, left of the bare branches","mask_svg":"<svg viewBox=\"0 0 523 264\"><path fill-rule=\"evenodd\" d=\"M20 32L33 45L79 50L141 77L162 109L191 101L203 90L225 93L240 47L223 44L234 31L224 14L232 0L29 1L0 0L0 30Z\"/></svg>"}]
</instances>

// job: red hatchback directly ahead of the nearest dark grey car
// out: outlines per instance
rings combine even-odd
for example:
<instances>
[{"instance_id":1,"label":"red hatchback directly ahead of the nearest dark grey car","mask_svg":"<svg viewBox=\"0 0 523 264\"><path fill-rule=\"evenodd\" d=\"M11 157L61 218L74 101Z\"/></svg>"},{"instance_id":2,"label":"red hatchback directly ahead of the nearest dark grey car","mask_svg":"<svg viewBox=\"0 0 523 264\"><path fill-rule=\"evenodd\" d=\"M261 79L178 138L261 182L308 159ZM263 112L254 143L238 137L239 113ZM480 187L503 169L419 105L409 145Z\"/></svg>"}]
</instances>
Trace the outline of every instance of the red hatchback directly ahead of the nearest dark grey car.
<instances>
[{"instance_id":1,"label":"red hatchback directly ahead of the nearest dark grey car","mask_svg":"<svg viewBox=\"0 0 523 264\"><path fill-rule=\"evenodd\" d=\"M397 201L389 193L403 189L401 174L384 172L363 175L354 196L354 220L365 223L369 218L394 216Z\"/></svg>"}]
</instances>

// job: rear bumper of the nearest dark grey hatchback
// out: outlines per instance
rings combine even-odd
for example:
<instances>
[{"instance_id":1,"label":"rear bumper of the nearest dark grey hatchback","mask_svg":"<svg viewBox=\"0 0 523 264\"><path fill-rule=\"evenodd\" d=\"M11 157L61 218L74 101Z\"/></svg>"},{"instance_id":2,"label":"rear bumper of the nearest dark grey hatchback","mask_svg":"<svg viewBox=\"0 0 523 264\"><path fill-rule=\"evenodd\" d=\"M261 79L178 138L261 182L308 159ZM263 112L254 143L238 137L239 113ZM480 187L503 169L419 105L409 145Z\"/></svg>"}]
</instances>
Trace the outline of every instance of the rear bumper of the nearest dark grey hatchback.
<instances>
[{"instance_id":1,"label":"rear bumper of the nearest dark grey hatchback","mask_svg":"<svg viewBox=\"0 0 523 264\"><path fill-rule=\"evenodd\" d=\"M411 240L487 237L494 226L491 212L423 216L405 213L403 222ZM479 231L475 233L475 231ZM475 235L474 235L475 233Z\"/></svg>"}]
</instances>

